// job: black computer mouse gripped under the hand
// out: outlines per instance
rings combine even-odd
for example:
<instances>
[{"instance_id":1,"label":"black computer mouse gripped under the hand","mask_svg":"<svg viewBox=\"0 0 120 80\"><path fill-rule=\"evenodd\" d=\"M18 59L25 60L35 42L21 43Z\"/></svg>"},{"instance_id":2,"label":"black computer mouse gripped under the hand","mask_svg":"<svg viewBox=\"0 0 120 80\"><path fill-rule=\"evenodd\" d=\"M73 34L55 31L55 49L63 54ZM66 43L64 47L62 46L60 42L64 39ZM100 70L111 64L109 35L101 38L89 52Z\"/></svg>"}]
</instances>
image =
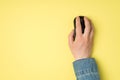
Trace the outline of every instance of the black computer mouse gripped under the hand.
<instances>
[{"instance_id":1,"label":"black computer mouse gripped under the hand","mask_svg":"<svg viewBox=\"0 0 120 80\"><path fill-rule=\"evenodd\" d=\"M80 18L80 24L81 24L82 34L83 34L85 29L84 16L79 16L79 18ZM74 40L75 40L75 37L76 37L76 17L74 18L74 35L73 35Z\"/></svg>"}]
</instances>

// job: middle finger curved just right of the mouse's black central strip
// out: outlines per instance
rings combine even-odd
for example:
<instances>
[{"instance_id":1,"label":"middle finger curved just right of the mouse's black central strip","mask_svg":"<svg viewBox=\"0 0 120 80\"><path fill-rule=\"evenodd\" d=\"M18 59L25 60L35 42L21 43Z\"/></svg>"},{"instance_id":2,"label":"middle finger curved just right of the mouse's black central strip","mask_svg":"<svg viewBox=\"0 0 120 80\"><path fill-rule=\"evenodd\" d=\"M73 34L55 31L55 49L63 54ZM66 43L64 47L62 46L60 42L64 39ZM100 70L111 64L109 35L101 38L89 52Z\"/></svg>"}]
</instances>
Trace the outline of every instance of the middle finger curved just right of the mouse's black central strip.
<instances>
[{"instance_id":1,"label":"middle finger curved just right of the mouse's black central strip","mask_svg":"<svg viewBox=\"0 0 120 80\"><path fill-rule=\"evenodd\" d=\"M85 37L89 37L90 36L90 32L92 30L91 22L90 22L90 20L87 17L84 17L84 21L85 21L84 36Z\"/></svg>"}]
</instances>

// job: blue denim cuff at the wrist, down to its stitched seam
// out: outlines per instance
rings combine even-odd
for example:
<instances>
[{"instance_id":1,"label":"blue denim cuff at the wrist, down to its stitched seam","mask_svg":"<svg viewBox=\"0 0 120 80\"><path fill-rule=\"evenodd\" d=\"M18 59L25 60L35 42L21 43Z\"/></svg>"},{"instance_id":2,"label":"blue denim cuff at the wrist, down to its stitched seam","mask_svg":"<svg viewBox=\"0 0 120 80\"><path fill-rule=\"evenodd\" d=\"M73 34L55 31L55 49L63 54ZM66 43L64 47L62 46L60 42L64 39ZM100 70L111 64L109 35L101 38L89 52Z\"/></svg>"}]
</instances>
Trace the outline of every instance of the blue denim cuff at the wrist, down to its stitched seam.
<instances>
[{"instance_id":1,"label":"blue denim cuff at the wrist, down to its stitched seam","mask_svg":"<svg viewBox=\"0 0 120 80\"><path fill-rule=\"evenodd\" d=\"M76 76L81 76L89 73L98 73L97 64L94 58L84 58L73 62L73 67Z\"/></svg>"}]
</instances>

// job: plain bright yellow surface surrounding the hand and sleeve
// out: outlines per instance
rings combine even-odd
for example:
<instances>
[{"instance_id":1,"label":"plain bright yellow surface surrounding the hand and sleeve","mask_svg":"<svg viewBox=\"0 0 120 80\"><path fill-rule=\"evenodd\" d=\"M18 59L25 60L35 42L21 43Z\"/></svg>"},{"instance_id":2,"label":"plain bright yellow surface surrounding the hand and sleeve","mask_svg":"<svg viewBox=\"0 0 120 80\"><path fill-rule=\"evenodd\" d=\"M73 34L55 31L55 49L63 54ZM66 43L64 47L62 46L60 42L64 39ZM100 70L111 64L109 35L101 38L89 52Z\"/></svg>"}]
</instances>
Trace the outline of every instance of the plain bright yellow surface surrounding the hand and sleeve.
<instances>
[{"instance_id":1,"label":"plain bright yellow surface surrounding the hand and sleeve","mask_svg":"<svg viewBox=\"0 0 120 80\"><path fill-rule=\"evenodd\" d=\"M75 80L73 18L95 25L101 80L120 80L119 0L0 0L0 80Z\"/></svg>"}]
</instances>

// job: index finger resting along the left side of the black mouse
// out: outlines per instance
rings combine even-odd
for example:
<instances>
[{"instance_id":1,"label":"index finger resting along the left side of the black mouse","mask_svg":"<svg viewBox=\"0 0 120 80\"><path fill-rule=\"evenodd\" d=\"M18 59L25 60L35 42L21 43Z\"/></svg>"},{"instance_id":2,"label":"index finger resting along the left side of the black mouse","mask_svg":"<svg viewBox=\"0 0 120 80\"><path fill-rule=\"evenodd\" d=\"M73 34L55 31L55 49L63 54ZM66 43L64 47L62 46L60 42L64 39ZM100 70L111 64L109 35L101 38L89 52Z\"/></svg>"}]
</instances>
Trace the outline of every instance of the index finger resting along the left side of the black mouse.
<instances>
[{"instance_id":1,"label":"index finger resting along the left side of the black mouse","mask_svg":"<svg viewBox=\"0 0 120 80\"><path fill-rule=\"evenodd\" d=\"M76 38L82 36L82 29L79 16L76 17Z\"/></svg>"}]
</instances>

